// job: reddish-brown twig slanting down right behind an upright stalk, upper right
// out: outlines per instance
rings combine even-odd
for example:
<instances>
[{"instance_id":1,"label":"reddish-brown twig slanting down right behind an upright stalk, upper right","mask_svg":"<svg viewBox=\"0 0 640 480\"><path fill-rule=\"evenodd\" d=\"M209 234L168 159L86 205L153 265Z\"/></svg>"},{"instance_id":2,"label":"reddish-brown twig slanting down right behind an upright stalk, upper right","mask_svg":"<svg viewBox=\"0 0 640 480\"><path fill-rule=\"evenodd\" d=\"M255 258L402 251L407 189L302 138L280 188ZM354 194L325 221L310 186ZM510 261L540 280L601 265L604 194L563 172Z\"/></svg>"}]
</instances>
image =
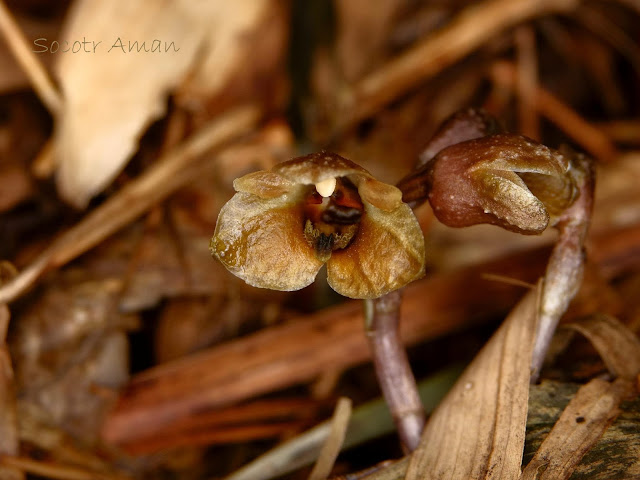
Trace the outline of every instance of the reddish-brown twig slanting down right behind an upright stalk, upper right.
<instances>
[{"instance_id":1,"label":"reddish-brown twig slanting down right behind an upright stalk, upper right","mask_svg":"<svg viewBox=\"0 0 640 480\"><path fill-rule=\"evenodd\" d=\"M497 83L517 90L518 71L512 63L497 62L492 69L492 75ZM611 161L617 157L616 147L609 137L566 103L540 86L536 88L535 98L538 112L564 130L593 157L602 161Z\"/></svg>"}]
</instances>

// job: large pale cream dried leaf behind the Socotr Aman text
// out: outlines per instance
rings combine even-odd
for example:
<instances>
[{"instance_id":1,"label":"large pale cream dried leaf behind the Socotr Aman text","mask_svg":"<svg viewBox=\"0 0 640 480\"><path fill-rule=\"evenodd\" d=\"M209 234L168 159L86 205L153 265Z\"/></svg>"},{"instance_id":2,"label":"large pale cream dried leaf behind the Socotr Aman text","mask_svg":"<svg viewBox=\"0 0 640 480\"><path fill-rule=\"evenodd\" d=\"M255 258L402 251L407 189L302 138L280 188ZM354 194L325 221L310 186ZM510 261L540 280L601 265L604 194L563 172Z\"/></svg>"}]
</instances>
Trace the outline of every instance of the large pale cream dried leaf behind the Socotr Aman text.
<instances>
[{"instance_id":1,"label":"large pale cream dried leaf behind the Socotr Aman text","mask_svg":"<svg viewBox=\"0 0 640 480\"><path fill-rule=\"evenodd\" d=\"M272 4L77 1L61 42L86 39L91 53L60 53L56 64L65 99L56 125L60 194L82 207L109 184L187 76L200 100L239 82L248 49L262 41L256 22Z\"/></svg>"}]
</instances>

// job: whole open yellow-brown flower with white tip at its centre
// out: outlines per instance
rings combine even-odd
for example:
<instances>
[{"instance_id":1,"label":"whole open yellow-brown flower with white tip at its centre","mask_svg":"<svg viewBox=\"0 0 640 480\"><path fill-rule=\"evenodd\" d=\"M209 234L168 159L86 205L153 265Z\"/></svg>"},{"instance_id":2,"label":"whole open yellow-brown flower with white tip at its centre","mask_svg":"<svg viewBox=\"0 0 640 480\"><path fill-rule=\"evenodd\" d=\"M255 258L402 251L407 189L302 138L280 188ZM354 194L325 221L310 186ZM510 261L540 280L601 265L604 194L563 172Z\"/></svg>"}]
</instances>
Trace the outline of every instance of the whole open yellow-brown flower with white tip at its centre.
<instances>
[{"instance_id":1,"label":"whole open yellow-brown flower with white tip at its centre","mask_svg":"<svg viewBox=\"0 0 640 480\"><path fill-rule=\"evenodd\" d=\"M245 175L222 208L212 255L249 285L298 290L324 263L329 285L377 298L424 274L424 238L400 190L339 155Z\"/></svg>"}]
</instances>

